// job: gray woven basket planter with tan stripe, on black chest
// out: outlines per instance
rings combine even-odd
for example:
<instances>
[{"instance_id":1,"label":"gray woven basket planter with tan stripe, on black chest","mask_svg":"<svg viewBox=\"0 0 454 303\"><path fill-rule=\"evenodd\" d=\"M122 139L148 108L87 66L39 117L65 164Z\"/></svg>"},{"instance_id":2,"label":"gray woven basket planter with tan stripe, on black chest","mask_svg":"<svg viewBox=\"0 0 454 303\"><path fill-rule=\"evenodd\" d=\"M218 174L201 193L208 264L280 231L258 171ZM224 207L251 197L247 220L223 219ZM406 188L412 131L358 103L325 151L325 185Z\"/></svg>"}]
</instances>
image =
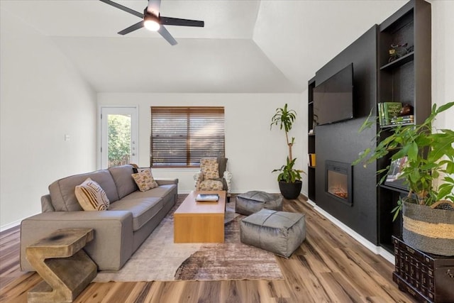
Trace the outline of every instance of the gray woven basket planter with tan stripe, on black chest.
<instances>
[{"instance_id":1,"label":"gray woven basket planter with tan stripe, on black chest","mask_svg":"<svg viewBox=\"0 0 454 303\"><path fill-rule=\"evenodd\" d=\"M404 202L402 238L435 255L454 255L454 211Z\"/></svg>"}]
</instances>

